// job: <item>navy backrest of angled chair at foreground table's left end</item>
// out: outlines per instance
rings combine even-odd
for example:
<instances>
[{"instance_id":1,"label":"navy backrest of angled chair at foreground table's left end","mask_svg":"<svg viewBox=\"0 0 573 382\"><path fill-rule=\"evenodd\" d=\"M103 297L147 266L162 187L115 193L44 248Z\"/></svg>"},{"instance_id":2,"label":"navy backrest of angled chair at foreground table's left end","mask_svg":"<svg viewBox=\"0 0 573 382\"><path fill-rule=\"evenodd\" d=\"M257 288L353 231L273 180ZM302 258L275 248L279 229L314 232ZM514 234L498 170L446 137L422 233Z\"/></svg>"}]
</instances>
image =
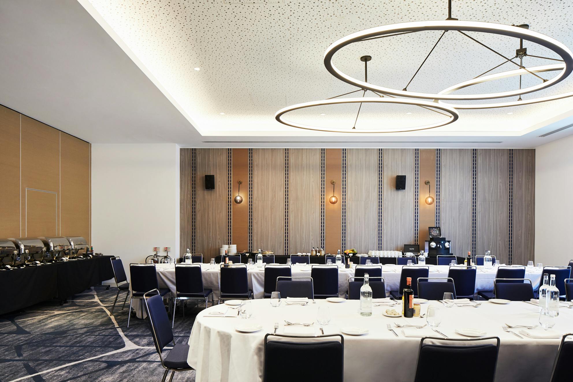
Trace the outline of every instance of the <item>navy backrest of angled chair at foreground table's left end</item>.
<instances>
[{"instance_id":1,"label":"navy backrest of angled chair at foreground table's left end","mask_svg":"<svg viewBox=\"0 0 573 382\"><path fill-rule=\"evenodd\" d=\"M148 297L152 295L151 297ZM147 318L151 326L151 334L153 342L155 342L155 349L161 357L163 348L171 341L173 341L173 332L171 330L171 323L165 306L163 305L163 297L159 296L159 290L154 289L143 295L145 307L147 310ZM163 358L161 360L163 364Z\"/></svg>"}]
</instances>

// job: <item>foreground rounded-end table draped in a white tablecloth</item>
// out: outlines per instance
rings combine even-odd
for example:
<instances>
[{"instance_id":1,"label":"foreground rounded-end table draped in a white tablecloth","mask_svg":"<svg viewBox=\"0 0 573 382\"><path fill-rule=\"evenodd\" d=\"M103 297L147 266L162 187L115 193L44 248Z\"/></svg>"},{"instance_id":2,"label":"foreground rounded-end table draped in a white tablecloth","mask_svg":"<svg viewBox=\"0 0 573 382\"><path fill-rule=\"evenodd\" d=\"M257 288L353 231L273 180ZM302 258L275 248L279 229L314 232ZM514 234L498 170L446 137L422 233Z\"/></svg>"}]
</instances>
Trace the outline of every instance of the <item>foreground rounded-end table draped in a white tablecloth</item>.
<instances>
[{"instance_id":1,"label":"foreground rounded-end table draped in a white tablecloth","mask_svg":"<svg viewBox=\"0 0 573 382\"><path fill-rule=\"evenodd\" d=\"M324 326L325 334L340 333L344 326L367 328L364 336L344 334L344 380L347 381L413 381L418 356L420 338L405 337L399 324L425 324L425 318L390 318L382 315L387 307L374 306L371 317L362 317L358 313L359 301L347 300L332 303L316 300L316 304L286 305L283 299L281 306L273 308L269 300L251 300L253 316L248 319L233 317L209 316L210 312L225 312L227 305L215 305L198 314L189 338L190 352L187 362L197 370L195 380L203 381L262 381L263 342L266 333L273 332L274 322L279 322L277 333L294 334L300 330L302 335L318 335L316 324L317 310L328 306L331 313L329 325ZM422 304L422 313L428 306L439 308L442 323L438 330L450 338L467 338L454 332L456 328L475 328L484 330L486 336L497 336L501 340L497 363L496 381L549 381L555 355L559 348L560 338L533 339L518 338L512 333L504 332L504 324L536 325L539 308L523 301L513 301L498 305L489 301L482 302L479 308L459 307L446 308L437 301ZM394 307L400 310L400 305ZM227 313L234 312L227 310ZM231 313L232 314L232 313ZM252 320L262 325L256 333L240 333L234 328L241 321ZM291 322L315 322L307 329L299 326L284 326L284 320ZM392 324L398 337L386 329ZM573 309L560 308L553 330L560 334L571 332L573 328ZM309 332L304 332L308 330ZM427 330L416 329L416 330ZM520 329L513 329L519 332ZM433 337L440 337L434 333ZM405 367L405 360L409 367ZM285 367L296 367L289 360L275 360L284 363ZM313 362L313 360L305 360ZM479 367L479 360L470 360L468 367ZM447 362L444 373L448 372ZM327 365L317 365L327 367Z\"/></svg>"}]
</instances>

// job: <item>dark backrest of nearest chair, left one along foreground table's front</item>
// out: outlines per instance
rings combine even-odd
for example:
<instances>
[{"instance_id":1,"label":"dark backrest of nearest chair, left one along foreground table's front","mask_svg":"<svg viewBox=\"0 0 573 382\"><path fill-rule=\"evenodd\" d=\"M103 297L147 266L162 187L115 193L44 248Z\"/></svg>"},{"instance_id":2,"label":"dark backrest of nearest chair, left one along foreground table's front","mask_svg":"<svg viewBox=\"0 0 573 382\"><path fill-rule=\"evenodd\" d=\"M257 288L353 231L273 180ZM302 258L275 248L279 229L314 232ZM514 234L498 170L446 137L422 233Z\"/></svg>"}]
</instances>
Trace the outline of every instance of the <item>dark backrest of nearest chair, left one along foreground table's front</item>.
<instances>
[{"instance_id":1,"label":"dark backrest of nearest chair, left one along foreground table's front","mask_svg":"<svg viewBox=\"0 0 573 382\"><path fill-rule=\"evenodd\" d=\"M280 337L281 340L269 341L269 337ZM289 338L292 341L288 341ZM328 341L330 338L336 341ZM344 338L341 334L315 337L268 333L265 335L263 353L264 382L295 381L301 380L301 376L305 381L343 382ZM281 361L284 359L304 361L296 367L285 368ZM328 367L316 367L317 364Z\"/></svg>"}]
</instances>

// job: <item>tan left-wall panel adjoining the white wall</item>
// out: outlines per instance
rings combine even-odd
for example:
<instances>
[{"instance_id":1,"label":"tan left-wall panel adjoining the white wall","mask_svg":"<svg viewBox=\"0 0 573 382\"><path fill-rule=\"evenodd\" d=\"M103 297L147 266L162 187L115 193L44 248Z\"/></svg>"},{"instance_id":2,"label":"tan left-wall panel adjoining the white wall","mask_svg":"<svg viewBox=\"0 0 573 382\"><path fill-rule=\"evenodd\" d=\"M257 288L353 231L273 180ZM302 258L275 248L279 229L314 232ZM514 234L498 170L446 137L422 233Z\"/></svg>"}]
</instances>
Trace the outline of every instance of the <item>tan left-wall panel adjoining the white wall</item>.
<instances>
[{"instance_id":1,"label":"tan left-wall panel adjoining the white wall","mask_svg":"<svg viewBox=\"0 0 573 382\"><path fill-rule=\"evenodd\" d=\"M91 243L89 232L89 143L60 132L60 227L62 236L81 236Z\"/></svg>"}]
</instances>

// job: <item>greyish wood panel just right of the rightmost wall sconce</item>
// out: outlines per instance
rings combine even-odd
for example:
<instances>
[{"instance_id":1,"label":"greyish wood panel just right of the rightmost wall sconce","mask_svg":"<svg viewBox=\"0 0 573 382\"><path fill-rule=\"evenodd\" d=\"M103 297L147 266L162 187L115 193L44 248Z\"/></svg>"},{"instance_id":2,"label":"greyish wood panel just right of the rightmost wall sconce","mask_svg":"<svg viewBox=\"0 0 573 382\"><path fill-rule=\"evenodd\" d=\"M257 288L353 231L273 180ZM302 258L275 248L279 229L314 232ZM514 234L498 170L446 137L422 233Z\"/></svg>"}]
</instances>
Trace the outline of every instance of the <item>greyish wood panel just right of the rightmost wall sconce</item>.
<instances>
[{"instance_id":1,"label":"greyish wood panel just right of the rightmost wall sconce","mask_svg":"<svg viewBox=\"0 0 573 382\"><path fill-rule=\"evenodd\" d=\"M441 156L442 235L462 256L472 250L472 149L442 149Z\"/></svg>"}]
</instances>

